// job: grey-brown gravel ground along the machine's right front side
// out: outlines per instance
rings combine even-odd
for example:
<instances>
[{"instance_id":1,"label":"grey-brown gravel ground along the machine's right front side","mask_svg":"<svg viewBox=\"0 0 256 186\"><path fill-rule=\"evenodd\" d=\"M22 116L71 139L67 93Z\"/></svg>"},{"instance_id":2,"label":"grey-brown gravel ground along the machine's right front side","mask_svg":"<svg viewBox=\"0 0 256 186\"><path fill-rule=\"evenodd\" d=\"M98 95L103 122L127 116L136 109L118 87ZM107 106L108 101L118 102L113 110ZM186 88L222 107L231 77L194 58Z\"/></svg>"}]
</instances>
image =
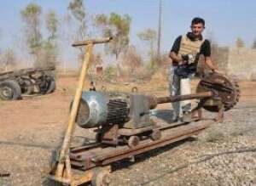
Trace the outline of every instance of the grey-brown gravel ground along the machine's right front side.
<instances>
[{"instance_id":1,"label":"grey-brown gravel ground along the machine's right front side","mask_svg":"<svg viewBox=\"0 0 256 186\"><path fill-rule=\"evenodd\" d=\"M136 164L113 172L113 185L256 185L255 111L230 110L224 123L197 138L137 157Z\"/></svg>"}]
</instances>

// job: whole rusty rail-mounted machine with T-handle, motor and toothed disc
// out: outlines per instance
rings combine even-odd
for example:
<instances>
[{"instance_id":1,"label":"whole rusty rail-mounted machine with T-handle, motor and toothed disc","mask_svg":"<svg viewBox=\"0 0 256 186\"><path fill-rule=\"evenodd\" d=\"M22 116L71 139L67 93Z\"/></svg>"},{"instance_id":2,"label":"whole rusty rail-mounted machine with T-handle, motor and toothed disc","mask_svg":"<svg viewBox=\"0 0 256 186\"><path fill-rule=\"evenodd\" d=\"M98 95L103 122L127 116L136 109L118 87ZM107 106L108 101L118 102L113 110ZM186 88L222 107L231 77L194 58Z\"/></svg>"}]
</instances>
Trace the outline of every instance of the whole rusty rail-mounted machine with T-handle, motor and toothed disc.
<instances>
[{"instance_id":1,"label":"whole rusty rail-mounted machine with T-handle, motor and toothed disc","mask_svg":"<svg viewBox=\"0 0 256 186\"><path fill-rule=\"evenodd\" d=\"M134 158L148 150L194 136L213 122L212 119L202 117L202 109L217 112L214 121L222 121L224 111L233 108L239 100L237 83L218 73L203 76L196 93L188 95L156 97L137 91L108 93L96 91L95 88L83 92L93 46L111 39L93 39L73 44L74 47L86 46L86 53L67 132L49 174L49 178L57 182L72 186L89 182L94 186L108 185L111 181L111 163ZM190 122L158 122L150 117L150 111L158 104L188 99L199 100L192 110L192 114L197 113L197 116ZM95 140L79 147L70 147L75 123L80 129L94 128Z\"/></svg>"}]
</instances>

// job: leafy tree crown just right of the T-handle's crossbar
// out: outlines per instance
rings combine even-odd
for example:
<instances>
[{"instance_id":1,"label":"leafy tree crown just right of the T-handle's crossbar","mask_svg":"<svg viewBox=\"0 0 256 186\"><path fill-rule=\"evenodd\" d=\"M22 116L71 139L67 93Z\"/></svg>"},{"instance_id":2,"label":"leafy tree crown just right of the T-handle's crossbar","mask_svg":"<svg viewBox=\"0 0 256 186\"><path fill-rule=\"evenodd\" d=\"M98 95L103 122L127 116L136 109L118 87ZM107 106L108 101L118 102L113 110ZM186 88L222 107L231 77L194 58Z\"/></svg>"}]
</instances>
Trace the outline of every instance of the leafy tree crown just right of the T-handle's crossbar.
<instances>
[{"instance_id":1,"label":"leafy tree crown just right of the T-handle's crossbar","mask_svg":"<svg viewBox=\"0 0 256 186\"><path fill-rule=\"evenodd\" d=\"M106 45L106 51L118 59L119 54L125 52L129 46L131 17L128 14L123 16L116 13L111 13L109 16L98 14L95 25L102 30L104 37L113 37L113 41Z\"/></svg>"}]
</instances>

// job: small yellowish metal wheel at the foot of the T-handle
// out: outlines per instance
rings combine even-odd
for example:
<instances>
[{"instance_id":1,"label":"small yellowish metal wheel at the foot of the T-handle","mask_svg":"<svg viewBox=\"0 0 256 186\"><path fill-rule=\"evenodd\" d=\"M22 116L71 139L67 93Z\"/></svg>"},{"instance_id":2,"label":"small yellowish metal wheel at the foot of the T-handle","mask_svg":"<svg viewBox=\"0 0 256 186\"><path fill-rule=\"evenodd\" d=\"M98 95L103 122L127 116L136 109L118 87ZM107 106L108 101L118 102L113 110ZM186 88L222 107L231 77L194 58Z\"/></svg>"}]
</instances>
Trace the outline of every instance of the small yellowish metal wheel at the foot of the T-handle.
<instances>
[{"instance_id":1,"label":"small yellowish metal wheel at the foot of the T-handle","mask_svg":"<svg viewBox=\"0 0 256 186\"><path fill-rule=\"evenodd\" d=\"M91 186L108 186L110 183L110 174L104 169L96 170L91 179Z\"/></svg>"}]
</instances>

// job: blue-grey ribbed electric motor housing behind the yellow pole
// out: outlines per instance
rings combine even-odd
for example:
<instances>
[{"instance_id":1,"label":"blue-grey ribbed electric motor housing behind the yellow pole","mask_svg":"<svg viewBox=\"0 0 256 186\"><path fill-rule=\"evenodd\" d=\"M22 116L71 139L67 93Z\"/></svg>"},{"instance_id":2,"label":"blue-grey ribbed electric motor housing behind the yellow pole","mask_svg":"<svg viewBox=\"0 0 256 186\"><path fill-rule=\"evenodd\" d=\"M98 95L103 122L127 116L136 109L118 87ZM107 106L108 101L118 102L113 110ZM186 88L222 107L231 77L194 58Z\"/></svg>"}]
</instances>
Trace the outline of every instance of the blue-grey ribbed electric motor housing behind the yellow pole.
<instances>
[{"instance_id":1,"label":"blue-grey ribbed electric motor housing behind the yellow pole","mask_svg":"<svg viewBox=\"0 0 256 186\"><path fill-rule=\"evenodd\" d=\"M129 121L130 106L125 94L88 91L82 93L77 115L79 127L124 124Z\"/></svg>"}]
</instances>

